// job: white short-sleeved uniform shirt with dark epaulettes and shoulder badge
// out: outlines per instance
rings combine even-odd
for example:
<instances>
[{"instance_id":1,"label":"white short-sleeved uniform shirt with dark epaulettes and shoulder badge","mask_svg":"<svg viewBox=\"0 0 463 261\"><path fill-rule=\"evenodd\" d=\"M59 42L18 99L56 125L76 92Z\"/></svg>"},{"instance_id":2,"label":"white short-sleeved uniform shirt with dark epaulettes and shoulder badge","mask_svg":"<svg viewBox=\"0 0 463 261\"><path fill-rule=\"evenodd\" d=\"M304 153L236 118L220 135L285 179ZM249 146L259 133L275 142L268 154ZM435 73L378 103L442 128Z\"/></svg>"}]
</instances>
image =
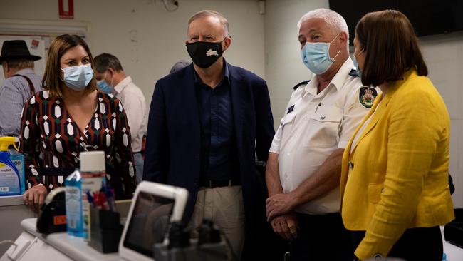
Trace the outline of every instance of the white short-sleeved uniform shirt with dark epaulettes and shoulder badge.
<instances>
[{"instance_id":1,"label":"white short-sleeved uniform shirt with dark epaulettes and shoulder badge","mask_svg":"<svg viewBox=\"0 0 463 261\"><path fill-rule=\"evenodd\" d=\"M360 78L349 75L354 68L348 58L321 93L317 93L318 79L314 75L291 95L270 148L270 152L279 154L284 193L298 188L334 150L345 148L368 113L359 101ZM339 188L300 205L296 211L313 215L339 212Z\"/></svg>"}]
</instances>

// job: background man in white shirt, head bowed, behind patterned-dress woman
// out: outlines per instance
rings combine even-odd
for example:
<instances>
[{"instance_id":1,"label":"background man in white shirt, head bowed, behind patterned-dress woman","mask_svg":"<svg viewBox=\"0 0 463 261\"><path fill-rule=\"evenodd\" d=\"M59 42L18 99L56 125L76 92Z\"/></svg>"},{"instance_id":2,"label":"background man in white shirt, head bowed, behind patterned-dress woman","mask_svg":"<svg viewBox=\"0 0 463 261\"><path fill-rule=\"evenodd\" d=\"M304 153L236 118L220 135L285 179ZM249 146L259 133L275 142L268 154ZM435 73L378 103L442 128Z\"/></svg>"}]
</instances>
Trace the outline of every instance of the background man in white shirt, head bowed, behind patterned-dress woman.
<instances>
[{"instance_id":1,"label":"background man in white shirt, head bowed, behind patterned-dress woman","mask_svg":"<svg viewBox=\"0 0 463 261\"><path fill-rule=\"evenodd\" d=\"M123 103L132 136L137 183L140 183L143 174L142 140L146 131L145 96L142 90L132 82L132 78L125 76L123 66L120 65L116 56L101 53L93 59L93 62L95 78L100 91L114 94Z\"/></svg>"}]
</instances>

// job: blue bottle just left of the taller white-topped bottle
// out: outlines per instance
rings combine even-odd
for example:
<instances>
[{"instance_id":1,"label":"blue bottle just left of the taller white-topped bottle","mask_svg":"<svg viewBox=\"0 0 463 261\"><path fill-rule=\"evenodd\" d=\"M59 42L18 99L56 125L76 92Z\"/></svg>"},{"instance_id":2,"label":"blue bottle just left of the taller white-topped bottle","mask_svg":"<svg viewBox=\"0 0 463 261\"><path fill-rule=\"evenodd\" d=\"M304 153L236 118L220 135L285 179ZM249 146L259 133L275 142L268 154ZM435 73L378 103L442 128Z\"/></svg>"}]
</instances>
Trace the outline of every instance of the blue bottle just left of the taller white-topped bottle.
<instances>
[{"instance_id":1,"label":"blue bottle just left of the taller white-topped bottle","mask_svg":"<svg viewBox=\"0 0 463 261\"><path fill-rule=\"evenodd\" d=\"M76 170L65 180L66 222L68 235L83 237L82 176Z\"/></svg>"}]
</instances>

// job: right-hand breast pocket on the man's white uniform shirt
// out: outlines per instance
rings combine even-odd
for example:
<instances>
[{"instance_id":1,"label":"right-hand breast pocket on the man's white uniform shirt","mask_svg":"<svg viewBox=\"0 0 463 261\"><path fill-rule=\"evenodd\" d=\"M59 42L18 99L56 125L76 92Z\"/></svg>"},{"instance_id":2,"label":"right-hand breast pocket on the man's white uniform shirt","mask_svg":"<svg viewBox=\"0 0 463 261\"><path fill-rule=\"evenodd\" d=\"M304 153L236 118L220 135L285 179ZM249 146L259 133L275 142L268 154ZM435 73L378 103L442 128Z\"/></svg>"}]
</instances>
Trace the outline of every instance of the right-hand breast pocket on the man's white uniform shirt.
<instances>
[{"instance_id":1,"label":"right-hand breast pocket on the man's white uniform shirt","mask_svg":"<svg viewBox=\"0 0 463 261\"><path fill-rule=\"evenodd\" d=\"M310 121L307 133L308 147L333 147L338 144L342 111L335 106L319 106Z\"/></svg>"}]
</instances>

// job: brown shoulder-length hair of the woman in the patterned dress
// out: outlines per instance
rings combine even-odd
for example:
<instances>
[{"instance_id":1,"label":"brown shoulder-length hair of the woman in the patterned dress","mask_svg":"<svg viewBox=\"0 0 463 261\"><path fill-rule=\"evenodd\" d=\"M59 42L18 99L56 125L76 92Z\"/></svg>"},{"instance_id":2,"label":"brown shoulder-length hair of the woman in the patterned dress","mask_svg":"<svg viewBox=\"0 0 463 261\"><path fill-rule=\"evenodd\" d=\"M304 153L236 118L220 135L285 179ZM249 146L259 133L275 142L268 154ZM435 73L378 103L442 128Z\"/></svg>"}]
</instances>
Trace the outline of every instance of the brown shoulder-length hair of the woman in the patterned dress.
<instances>
[{"instance_id":1,"label":"brown shoulder-length hair of the woman in the patterned dress","mask_svg":"<svg viewBox=\"0 0 463 261\"><path fill-rule=\"evenodd\" d=\"M63 98L61 86L63 86L64 83L61 80L60 60L64 53L76 46L82 46L85 49L88 57L90 58L90 64L93 69L92 53L90 53L90 48L88 48L87 43L85 43L80 36L75 34L62 34L61 36L57 36L53 39L50 44L50 48L48 49L48 58L42 79L43 89L48 90L51 98ZM96 80L95 77L93 77L85 88L85 92L90 93L95 90Z\"/></svg>"}]
</instances>

